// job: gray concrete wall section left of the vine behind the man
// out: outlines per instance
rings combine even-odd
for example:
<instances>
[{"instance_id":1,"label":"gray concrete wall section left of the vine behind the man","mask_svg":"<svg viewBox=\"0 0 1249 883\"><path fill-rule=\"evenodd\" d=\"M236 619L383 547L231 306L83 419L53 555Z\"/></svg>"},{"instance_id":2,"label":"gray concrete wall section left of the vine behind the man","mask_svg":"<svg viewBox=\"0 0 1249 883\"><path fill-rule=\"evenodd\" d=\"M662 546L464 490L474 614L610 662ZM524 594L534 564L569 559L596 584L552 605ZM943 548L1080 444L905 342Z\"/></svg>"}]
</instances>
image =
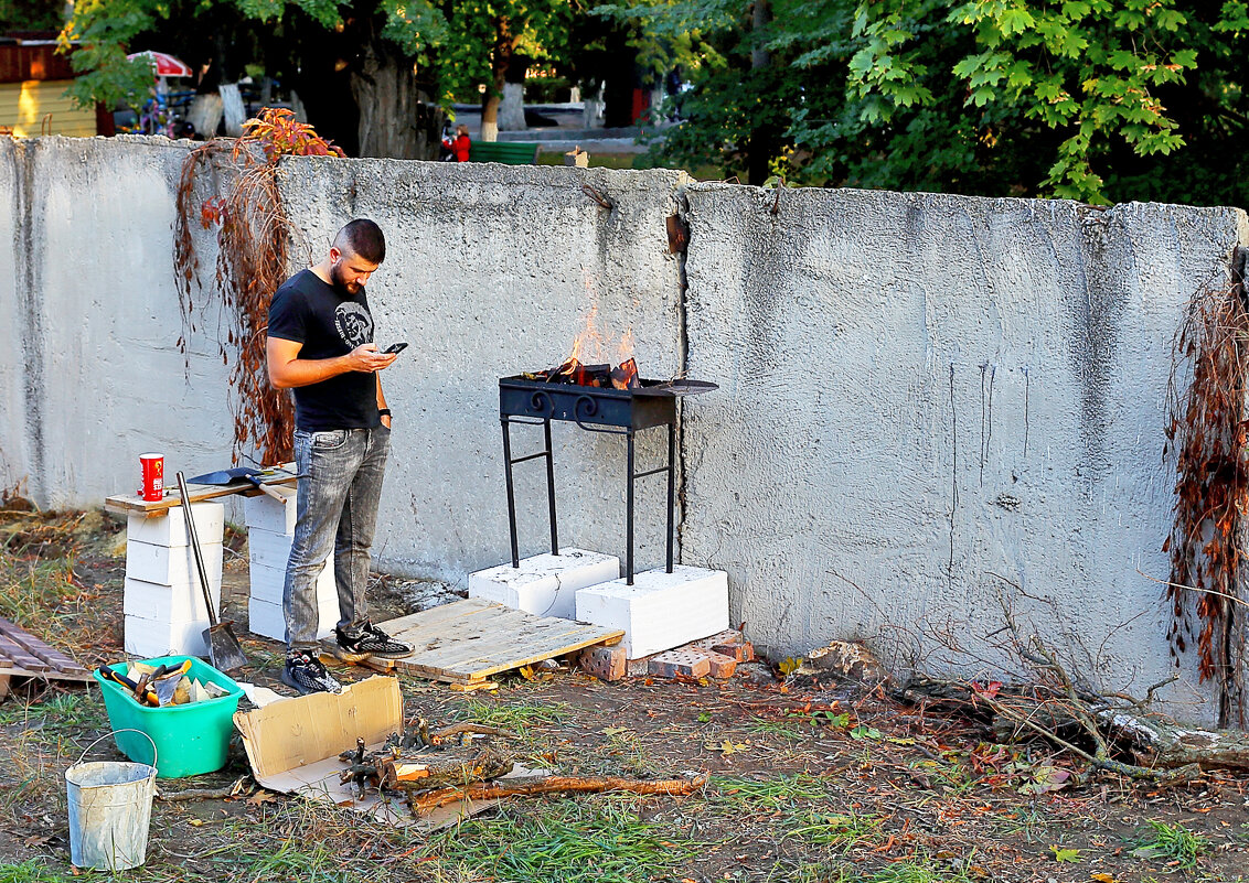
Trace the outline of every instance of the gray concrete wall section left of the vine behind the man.
<instances>
[{"instance_id":1,"label":"gray concrete wall section left of the vine behind the man","mask_svg":"<svg viewBox=\"0 0 1249 883\"><path fill-rule=\"evenodd\" d=\"M187 358L176 345L185 152L164 140L0 138L0 198L14 207L0 220L11 242L0 286L12 284L0 288L0 478L25 481L41 505L137 488L146 450L166 454L171 480L227 461L217 308L195 314Z\"/></svg>"}]
</instances>

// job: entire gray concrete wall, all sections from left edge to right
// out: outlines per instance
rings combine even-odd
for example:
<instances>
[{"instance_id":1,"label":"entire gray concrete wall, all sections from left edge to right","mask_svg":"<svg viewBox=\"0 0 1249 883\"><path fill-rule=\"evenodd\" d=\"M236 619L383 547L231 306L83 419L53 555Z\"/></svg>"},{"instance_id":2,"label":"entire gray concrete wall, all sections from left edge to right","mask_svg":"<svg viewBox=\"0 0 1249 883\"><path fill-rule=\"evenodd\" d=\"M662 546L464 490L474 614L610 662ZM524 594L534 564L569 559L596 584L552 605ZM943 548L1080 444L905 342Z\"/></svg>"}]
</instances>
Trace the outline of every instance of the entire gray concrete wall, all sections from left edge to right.
<instances>
[{"instance_id":1,"label":"entire gray concrete wall, all sections from left edge to right","mask_svg":"<svg viewBox=\"0 0 1249 883\"><path fill-rule=\"evenodd\" d=\"M0 140L0 480L44 505L130 489L146 449L170 471L229 459L212 298L197 297L189 363L175 347L186 148ZM382 378L385 567L463 582L506 557L496 380L562 359L597 311L610 334L632 331L644 374L722 384L684 407L682 559L729 572L734 619L772 654L867 637L902 663L999 670L1004 592L1089 676L1140 690L1170 672L1160 586L1137 572L1167 572L1170 342L1249 239L1243 213L816 190L776 203L662 171L318 158L284 161L281 188L297 266L351 217L388 234L377 338L411 345ZM678 208L684 259L667 253ZM538 437L517 430L516 453ZM623 444L557 427L556 446L565 544L622 554ZM646 463L661 454L643 445ZM541 478L518 466L522 554L543 549ZM662 551L662 483L646 481L643 566ZM1185 682L1170 697L1204 696Z\"/></svg>"}]
</instances>

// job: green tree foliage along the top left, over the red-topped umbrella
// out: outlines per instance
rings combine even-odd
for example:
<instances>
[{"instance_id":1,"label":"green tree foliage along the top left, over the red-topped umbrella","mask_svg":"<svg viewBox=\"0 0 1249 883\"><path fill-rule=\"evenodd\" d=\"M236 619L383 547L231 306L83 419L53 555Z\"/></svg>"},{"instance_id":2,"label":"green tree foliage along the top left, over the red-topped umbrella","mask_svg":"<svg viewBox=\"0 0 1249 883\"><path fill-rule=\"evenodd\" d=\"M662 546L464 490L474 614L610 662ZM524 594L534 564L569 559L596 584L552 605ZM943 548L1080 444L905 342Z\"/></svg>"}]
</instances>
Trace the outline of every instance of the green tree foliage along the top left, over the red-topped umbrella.
<instances>
[{"instance_id":1,"label":"green tree foliage along the top left, over the red-topped umbrella","mask_svg":"<svg viewBox=\"0 0 1249 883\"><path fill-rule=\"evenodd\" d=\"M531 59L558 54L567 41L567 0L79 0L62 42L79 42L72 61L82 76L71 94L82 104L134 101L146 95L151 77L127 51L164 35L166 51L206 35L239 54L242 44L271 75L289 82L306 79L309 67L360 74L362 59L413 71L433 101L492 85L500 41ZM365 76L373 71L365 70ZM301 90L305 101L313 87ZM340 90L350 94L350 90ZM311 104L309 105L312 112ZM322 130L318 121L317 128Z\"/></svg>"}]
</instances>

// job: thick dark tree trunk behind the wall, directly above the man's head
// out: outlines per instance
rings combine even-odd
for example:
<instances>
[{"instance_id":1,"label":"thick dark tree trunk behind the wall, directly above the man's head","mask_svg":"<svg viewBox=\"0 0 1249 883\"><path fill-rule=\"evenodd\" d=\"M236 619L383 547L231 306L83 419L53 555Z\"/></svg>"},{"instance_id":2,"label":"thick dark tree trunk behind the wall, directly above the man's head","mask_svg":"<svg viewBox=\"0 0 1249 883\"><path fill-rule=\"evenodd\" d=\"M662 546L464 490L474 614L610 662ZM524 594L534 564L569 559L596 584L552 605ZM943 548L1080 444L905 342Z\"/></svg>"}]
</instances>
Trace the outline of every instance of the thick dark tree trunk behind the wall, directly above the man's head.
<instances>
[{"instance_id":1,"label":"thick dark tree trunk behind the wall, directly above the man's head","mask_svg":"<svg viewBox=\"0 0 1249 883\"><path fill-rule=\"evenodd\" d=\"M372 40L351 74L351 94L360 109L360 156L438 157L445 115L421 90L411 60Z\"/></svg>"}]
</instances>

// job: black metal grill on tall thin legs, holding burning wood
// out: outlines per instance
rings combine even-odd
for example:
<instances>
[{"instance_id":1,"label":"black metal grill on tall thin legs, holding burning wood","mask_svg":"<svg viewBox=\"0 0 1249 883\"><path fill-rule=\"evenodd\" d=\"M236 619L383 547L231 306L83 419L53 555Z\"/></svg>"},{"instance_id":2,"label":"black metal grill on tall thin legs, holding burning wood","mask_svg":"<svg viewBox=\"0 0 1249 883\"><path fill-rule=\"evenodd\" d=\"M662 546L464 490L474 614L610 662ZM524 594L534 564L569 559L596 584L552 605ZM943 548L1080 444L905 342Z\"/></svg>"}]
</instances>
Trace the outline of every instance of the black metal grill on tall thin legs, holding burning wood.
<instances>
[{"instance_id":1,"label":"black metal grill on tall thin legs, holding burning wood","mask_svg":"<svg viewBox=\"0 0 1249 883\"><path fill-rule=\"evenodd\" d=\"M718 389L706 380L641 380L636 389L605 389L535 380L523 374L498 380L498 413L503 424L503 461L507 471L507 529L512 543L512 566L521 566L516 535L516 490L512 466L526 460L546 459L547 508L551 520L551 554L560 554L560 531L555 505L555 455L551 423L576 423L587 433L623 435L626 444L624 494L624 579L633 585L633 484L639 478L667 473L668 533L667 570L672 572L673 510L676 506L677 399ZM546 448L536 454L512 456L513 423L541 425ZM668 463L638 473L634 468L636 434L646 429L667 428Z\"/></svg>"}]
</instances>

